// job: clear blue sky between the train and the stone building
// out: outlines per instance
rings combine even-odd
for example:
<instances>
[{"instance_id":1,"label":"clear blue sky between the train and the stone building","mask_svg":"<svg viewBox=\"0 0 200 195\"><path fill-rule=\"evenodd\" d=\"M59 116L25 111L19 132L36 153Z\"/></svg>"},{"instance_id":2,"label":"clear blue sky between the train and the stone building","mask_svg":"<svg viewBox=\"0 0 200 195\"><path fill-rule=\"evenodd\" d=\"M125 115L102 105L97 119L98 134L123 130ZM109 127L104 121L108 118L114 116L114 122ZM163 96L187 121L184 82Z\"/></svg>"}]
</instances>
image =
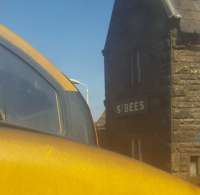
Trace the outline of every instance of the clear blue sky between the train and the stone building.
<instances>
[{"instance_id":1,"label":"clear blue sky between the train and the stone building","mask_svg":"<svg viewBox=\"0 0 200 195\"><path fill-rule=\"evenodd\" d=\"M16 3L16 4L15 4ZM0 23L89 86L94 119L104 110L104 47L114 0L1 0ZM84 89L80 89L84 93Z\"/></svg>"}]
</instances>

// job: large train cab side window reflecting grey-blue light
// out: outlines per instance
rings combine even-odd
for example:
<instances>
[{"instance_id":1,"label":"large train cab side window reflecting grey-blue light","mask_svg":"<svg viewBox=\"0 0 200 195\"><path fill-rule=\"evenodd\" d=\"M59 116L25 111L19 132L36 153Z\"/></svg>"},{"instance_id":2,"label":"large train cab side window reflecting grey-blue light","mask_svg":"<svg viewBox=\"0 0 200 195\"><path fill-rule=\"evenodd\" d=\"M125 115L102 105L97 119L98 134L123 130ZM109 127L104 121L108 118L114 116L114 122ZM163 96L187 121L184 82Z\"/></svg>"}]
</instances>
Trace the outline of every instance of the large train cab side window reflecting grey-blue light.
<instances>
[{"instance_id":1,"label":"large train cab side window reflecting grey-blue light","mask_svg":"<svg viewBox=\"0 0 200 195\"><path fill-rule=\"evenodd\" d=\"M54 88L29 64L3 47L0 47L0 59L0 110L4 110L5 120L18 126L59 133Z\"/></svg>"}]
</instances>

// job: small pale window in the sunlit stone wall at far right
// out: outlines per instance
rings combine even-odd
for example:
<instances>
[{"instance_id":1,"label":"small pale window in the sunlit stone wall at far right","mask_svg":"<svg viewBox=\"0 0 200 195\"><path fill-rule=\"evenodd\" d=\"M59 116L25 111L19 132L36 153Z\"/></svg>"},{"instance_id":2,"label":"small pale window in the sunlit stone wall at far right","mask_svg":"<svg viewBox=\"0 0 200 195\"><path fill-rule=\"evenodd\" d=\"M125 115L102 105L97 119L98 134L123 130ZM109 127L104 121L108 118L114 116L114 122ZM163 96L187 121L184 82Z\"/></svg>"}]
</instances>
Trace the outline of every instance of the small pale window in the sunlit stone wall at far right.
<instances>
[{"instance_id":1,"label":"small pale window in the sunlit stone wall at far right","mask_svg":"<svg viewBox=\"0 0 200 195\"><path fill-rule=\"evenodd\" d=\"M199 156L192 156L190 158L190 176L196 177L200 175L200 157Z\"/></svg>"}]
</instances>

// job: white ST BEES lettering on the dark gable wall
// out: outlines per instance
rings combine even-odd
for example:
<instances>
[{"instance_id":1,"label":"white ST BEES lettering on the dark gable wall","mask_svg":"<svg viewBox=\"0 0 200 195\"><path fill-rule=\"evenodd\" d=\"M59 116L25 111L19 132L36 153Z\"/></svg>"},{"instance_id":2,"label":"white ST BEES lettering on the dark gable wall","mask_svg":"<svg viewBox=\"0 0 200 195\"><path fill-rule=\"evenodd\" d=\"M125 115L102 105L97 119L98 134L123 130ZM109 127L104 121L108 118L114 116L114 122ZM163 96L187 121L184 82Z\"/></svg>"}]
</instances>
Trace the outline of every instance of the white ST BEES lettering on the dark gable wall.
<instances>
[{"instance_id":1,"label":"white ST BEES lettering on the dark gable wall","mask_svg":"<svg viewBox=\"0 0 200 195\"><path fill-rule=\"evenodd\" d=\"M142 98L125 100L121 103L116 103L113 106L115 116L125 116L138 113L145 113L147 110L147 101Z\"/></svg>"}]
</instances>

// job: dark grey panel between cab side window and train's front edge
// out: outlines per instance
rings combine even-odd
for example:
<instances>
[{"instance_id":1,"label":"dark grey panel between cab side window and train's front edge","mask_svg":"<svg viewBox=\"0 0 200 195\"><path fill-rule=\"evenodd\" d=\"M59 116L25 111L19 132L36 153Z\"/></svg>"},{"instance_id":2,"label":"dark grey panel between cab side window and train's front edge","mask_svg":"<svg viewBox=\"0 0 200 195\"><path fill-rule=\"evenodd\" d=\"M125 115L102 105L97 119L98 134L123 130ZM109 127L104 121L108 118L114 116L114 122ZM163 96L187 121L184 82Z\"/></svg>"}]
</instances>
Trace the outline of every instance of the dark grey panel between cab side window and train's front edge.
<instances>
[{"instance_id":1,"label":"dark grey panel between cab side window and train's front edge","mask_svg":"<svg viewBox=\"0 0 200 195\"><path fill-rule=\"evenodd\" d=\"M67 108L70 111L70 127L66 136L72 140L95 144L95 131L89 108L78 92L66 92Z\"/></svg>"}]
</instances>

